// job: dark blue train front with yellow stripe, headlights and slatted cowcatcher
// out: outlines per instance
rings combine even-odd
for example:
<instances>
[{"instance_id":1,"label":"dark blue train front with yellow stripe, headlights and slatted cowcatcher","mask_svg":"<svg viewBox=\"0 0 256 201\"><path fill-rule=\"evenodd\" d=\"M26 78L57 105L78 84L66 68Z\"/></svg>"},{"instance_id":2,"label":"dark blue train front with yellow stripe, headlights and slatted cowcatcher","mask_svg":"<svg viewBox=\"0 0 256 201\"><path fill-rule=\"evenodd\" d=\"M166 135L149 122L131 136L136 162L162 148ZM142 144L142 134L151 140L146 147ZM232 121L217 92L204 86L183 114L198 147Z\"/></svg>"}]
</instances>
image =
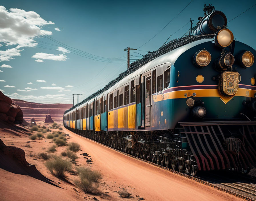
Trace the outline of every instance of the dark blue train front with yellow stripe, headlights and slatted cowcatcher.
<instances>
[{"instance_id":1,"label":"dark blue train front with yellow stripe, headlights and slatted cowcatcher","mask_svg":"<svg viewBox=\"0 0 256 201\"><path fill-rule=\"evenodd\" d=\"M199 18L192 35L212 39L188 44L174 64L173 114L183 148L199 170L248 173L256 165L256 51L234 40L221 11Z\"/></svg>"}]
</instances>

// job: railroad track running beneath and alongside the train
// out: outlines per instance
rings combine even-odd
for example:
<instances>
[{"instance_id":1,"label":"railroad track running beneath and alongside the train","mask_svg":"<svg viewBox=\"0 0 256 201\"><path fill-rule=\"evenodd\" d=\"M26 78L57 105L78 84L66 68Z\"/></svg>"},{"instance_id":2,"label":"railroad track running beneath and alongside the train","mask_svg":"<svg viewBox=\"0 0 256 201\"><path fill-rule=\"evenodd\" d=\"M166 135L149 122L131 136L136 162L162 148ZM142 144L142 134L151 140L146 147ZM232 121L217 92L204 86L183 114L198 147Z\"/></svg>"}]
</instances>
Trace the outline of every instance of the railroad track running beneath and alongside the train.
<instances>
[{"instance_id":1,"label":"railroad track running beneath and alongside the train","mask_svg":"<svg viewBox=\"0 0 256 201\"><path fill-rule=\"evenodd\" d=\"M67 130L68 130L68 129L67 129ZM72 131L71 131L71 132L72 132ZM76 134L76 133L75 133L75 134ZM78 134L78 135L79 135L79 134ZM99 142L97 142L97 141L95 141L95 140L92 140L92 139L90 139L90 138L84 137L84 136L82 136L82 135L79 135L79 136L81 136L81 137L83 137L83 138L86 138L86 139L88 139L88 140L91 140L91 141L93 141L93 142L95 142L95 143L97 143L97 144L100 144L100 145L102 145L102 146L108 147L108 148L110 148L110 149L112 149L112 150L115 150L115 151L117 151L117 152L119 152L119 153L122 153L122 154L124 154L124 155L126 155L126 156L129 156L129 157L131 157L131 158L135 158L135 159L137 159L137 160L146 162L146 163L148 163L148 164L151 164L151 165L153 165L153 166L156 166L156 167L161 168L161 169L163 169L163 170L166 170L166 171L168 171L168 172L172 172L172 173L174 173L174 174L178 174L178 175L183 176L183 177L185 177L185 178L191 179L191 180L193 180L193 181L195 181L195 182L199 182L199 183L204 184L204 185L206 185L206 186L210 186L210 187L215 188L215 189L217 189L217 190L221 190L222 192L226 192L226 193L231 194L231 195L234 195L234 196L236 196L236 197L238 197L238 198L242 198L243 200L247 200L247 201L256 201L256 184L253 184L253 183L241 183L241 182L240 182L240 183L219 183L218 180L212 179L212 178L211 178L211 180L206 181L205 178L200 178L200 177L197 177L197 176L192 177L192 176L189 176L189 175L187 175L187 174L183 174L183 173L181 173L181 172L177 172L177 171L175 171L175 170L172 170L172 169L163 167L163 166L161 166L161 165L159 165L159 164L155 164L155 163L153 163L153 162L150 162L150 161L147 161L147 160L138 158L138 157L136 157L136 156L127 154L127 153L122 152L122 151L120 151L120 150L118 150L118 149L112 148L112 147L107 146L107 145L105 145L105 144L101 144L101 143L99 143ZM249 178L248 178L248 179L249 179ZM214 180L215 180L215 182L214 182ZM255 179L253 179L253 180L255 180ZM223 181L223 180L222 180L222 181ZM256 181L256 180L255 180L255 181Z\"/></svg>"}]
</instances>

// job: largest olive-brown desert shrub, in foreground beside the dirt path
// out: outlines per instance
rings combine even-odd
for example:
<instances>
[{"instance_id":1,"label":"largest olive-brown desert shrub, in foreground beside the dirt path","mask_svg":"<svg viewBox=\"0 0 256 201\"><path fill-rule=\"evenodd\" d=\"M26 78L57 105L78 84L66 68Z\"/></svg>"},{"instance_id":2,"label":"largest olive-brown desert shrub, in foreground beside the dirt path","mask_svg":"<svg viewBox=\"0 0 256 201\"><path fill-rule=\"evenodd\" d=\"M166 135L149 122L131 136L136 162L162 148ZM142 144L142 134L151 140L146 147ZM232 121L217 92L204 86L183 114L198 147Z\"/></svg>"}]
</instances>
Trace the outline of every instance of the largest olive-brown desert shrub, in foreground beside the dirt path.
<instances>
[{"instance_id":1,"label":"largest olive-brown desert shrub, in foreground beside the dirt path","mask_svg":"<svg viewBox=\"0 0 256 201\"><path fill-rule=\"evenodd\" d=\"M74 181L75 185L85 192L94 192L99 187L97 181L101 178L101 174L90 168L77 168L80 179Z\"/></svg>"}]
</instances>

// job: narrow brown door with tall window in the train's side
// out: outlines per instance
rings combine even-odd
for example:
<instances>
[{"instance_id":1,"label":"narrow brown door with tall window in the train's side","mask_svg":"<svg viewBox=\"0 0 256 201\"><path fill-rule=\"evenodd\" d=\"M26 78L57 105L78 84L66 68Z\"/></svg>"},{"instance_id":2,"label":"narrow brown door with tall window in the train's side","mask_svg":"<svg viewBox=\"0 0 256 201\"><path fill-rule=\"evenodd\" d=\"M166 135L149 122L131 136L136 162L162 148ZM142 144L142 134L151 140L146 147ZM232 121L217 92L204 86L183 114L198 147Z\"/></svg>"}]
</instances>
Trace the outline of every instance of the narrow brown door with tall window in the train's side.
<instances>
[{"instance_id":1,"label":"narrow brown door with tall window in the train's side","mask_svg":"<svg viewBox=\"0 0 256 201\"><path fill-rule=\"evenodd\" d=\"M151 75L149 75L149 77L146 77L145 87L145 126L150 126Z\"/></svg>"}]
</instances>

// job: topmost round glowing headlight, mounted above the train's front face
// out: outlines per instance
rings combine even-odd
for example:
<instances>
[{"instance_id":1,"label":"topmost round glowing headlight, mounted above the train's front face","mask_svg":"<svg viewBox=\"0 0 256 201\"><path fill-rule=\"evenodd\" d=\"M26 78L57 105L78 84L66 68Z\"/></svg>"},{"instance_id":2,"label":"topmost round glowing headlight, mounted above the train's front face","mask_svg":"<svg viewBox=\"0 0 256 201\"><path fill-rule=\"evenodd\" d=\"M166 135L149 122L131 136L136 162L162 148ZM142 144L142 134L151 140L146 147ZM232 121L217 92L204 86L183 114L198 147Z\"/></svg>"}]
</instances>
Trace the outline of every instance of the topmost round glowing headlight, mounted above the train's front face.
<instances>
[{"instance_id":1,"label":"topmost round glowing headlight, mounted above the train's front face","mask_svg":"<svg viewBox=\"0 0 256 201\"><path fill-rule=\"evenodd\" d=\"M234 35L229 29L221 29L217 31L214 37L214 43L219 47L227 47L233 40Z\"/></svg>"}]
</instances>

